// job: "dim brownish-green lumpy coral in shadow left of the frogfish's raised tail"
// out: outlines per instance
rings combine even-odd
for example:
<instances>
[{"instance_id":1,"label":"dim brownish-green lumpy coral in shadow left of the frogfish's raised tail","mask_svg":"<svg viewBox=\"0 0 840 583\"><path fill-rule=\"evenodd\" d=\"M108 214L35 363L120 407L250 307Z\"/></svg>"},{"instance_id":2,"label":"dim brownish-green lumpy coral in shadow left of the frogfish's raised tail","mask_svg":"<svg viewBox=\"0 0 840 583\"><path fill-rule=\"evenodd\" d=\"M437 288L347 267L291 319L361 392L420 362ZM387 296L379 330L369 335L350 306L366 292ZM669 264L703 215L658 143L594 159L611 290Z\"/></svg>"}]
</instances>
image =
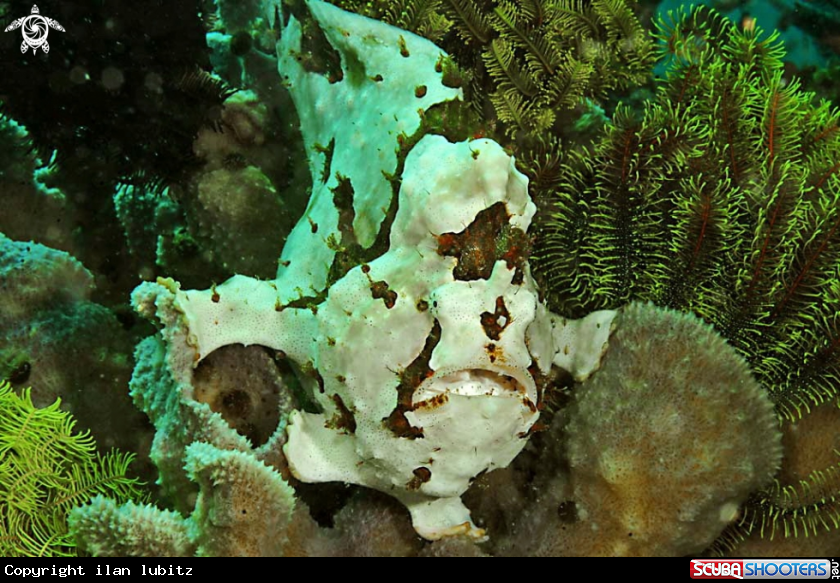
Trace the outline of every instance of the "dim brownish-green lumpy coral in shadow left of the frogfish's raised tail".
<instances>
[{"instance_id":1,"label":"dim brownish-green lumpy coral in shadow left of the frogfish's raised tail","mask_svg":"<svg viewBox=\"0 0 840 583\"><path fill-rule=\"evenodd\" d=\"M281 196L289 147L251 91L229 97L193 143L196 167L160 190L122 184L117 218L143 279L165 272L204 286L233 274L272 277L305 203ZM249 237L241 236L250 233Z\"/></svg>"}]
</instances>

